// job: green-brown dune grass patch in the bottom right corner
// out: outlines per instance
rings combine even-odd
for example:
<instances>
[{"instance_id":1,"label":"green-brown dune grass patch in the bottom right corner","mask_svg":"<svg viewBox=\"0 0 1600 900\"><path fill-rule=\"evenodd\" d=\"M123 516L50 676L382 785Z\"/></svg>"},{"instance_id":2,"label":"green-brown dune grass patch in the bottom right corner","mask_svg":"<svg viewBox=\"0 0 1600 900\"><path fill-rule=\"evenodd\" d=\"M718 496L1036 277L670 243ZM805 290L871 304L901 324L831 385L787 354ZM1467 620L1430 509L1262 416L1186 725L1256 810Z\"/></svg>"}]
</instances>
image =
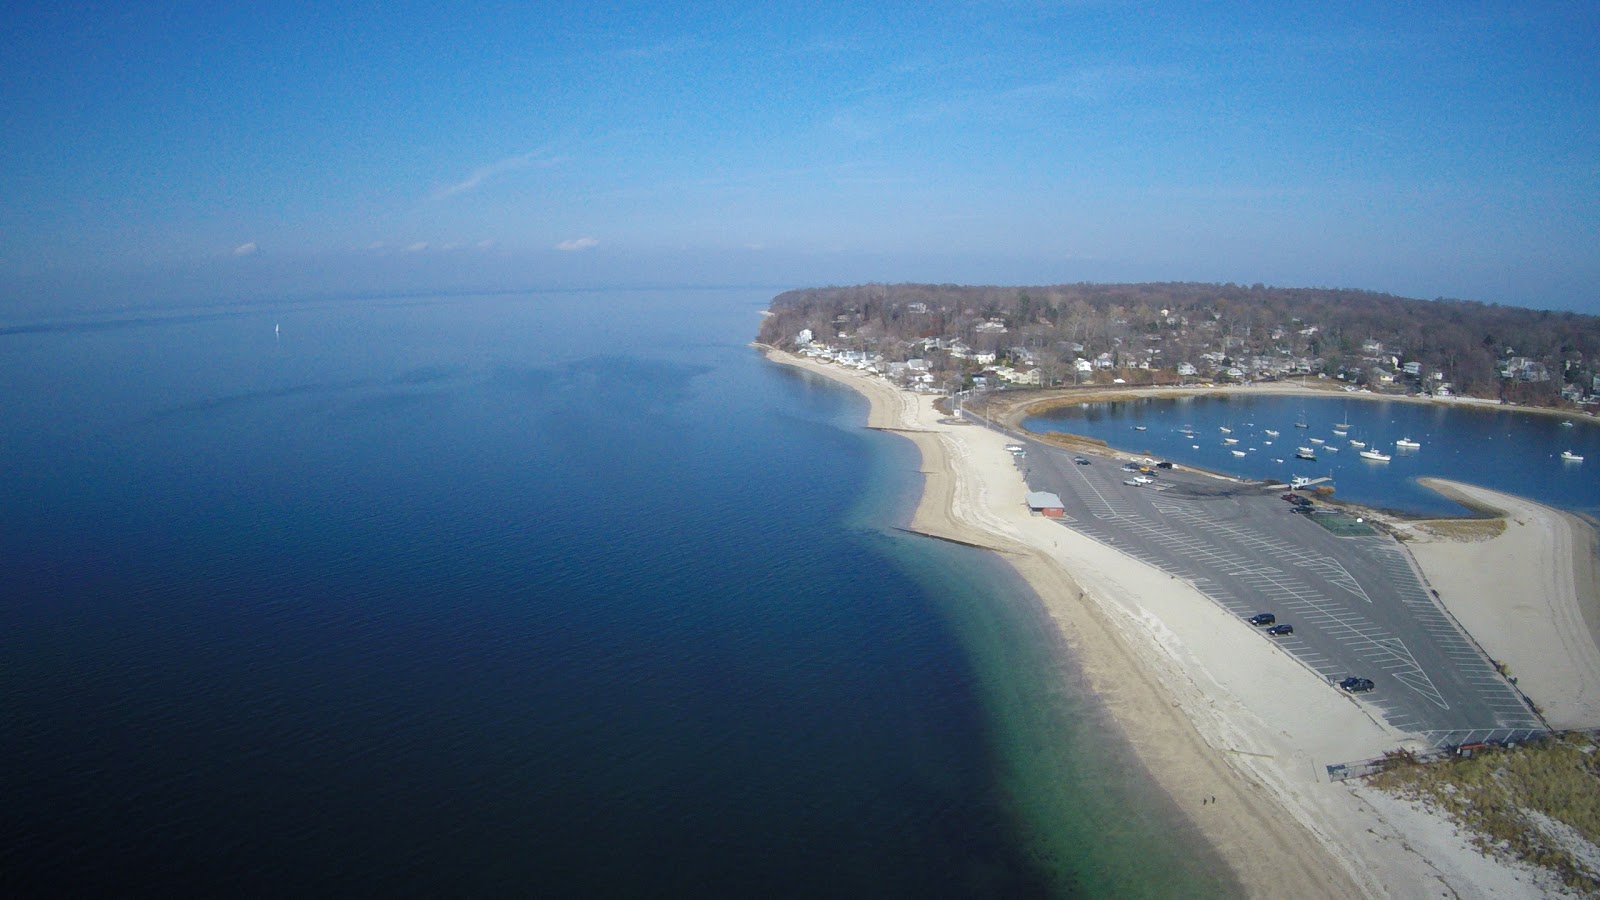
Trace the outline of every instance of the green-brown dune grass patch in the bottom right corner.
<instances>
[{"instance_id":1,"label":"green-brown dune grass patch in the bottom right corner","mask_svg":"<svg viewBox=\"0 0 1600 900\"><path fill-rule=\"evenodd\" d=\"M1434 764L1395 754L1370 783L1450 814L1486 855L1550 870L1573 890L1600 897L1600 748L1587 737L1488 748Z\"/></svg>"}]
</instances>

